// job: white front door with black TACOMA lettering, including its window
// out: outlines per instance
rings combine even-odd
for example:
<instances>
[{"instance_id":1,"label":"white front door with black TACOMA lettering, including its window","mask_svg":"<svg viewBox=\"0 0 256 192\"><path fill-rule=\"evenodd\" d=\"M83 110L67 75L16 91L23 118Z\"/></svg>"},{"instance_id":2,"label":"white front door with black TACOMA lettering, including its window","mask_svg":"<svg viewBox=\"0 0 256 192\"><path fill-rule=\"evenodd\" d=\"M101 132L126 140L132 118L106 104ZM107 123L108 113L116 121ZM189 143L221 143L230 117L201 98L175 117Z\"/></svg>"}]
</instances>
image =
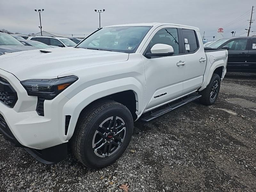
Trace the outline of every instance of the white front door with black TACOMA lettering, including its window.
<instances>
[{"instance_id":1,"label":"white front door with black TACOMA lettering, including its window","mask_svg":"<svg viewBox=\"0 0 256 192\"><path fill-rule=\"evenodd\" d=\"M155 35L152 34L146 49L146 52L150 52L155 44L168 44L173 47L172 56L151 59L142 56L146 76L145 110L182 96L185 57L180 55L182 48L178 34L177 28L159 28Z\"/></svg>"}]
</instances>

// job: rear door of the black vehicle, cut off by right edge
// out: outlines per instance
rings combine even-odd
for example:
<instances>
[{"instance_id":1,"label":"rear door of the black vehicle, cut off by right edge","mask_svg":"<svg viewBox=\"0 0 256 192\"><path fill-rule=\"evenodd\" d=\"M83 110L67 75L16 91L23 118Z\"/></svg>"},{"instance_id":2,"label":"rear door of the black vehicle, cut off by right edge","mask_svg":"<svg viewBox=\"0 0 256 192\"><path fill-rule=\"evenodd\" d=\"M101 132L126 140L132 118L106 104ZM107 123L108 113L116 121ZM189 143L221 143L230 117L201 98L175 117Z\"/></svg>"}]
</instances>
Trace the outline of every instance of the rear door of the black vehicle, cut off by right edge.
<instances>
[{"instance_id":1,"label":"rear door of the black vehicle, cut off by right edge","mask_svg":"<svg viewBox=\"0 0 256 192\"><path fill-rule=\"evenodd\" d=\"M256 72L256 37L250 39L248 58L245 62L245 70Z\"/></svg>"}]
</instances>

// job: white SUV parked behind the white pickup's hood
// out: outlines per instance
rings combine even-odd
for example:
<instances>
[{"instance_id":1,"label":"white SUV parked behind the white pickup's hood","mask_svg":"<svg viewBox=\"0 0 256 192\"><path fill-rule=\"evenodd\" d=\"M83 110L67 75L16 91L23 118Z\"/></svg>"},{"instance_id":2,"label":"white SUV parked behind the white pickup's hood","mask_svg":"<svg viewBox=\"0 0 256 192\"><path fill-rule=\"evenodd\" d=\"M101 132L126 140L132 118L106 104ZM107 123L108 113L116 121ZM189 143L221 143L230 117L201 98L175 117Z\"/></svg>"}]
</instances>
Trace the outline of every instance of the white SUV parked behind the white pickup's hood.
<instances>
[{"instance_id":1,"label":"white SUV parked behind the white pickup's hood","mask_svg":"<svg viewBox=\"0 0 256 192\"><path fill-rule=\"evenodd\" d=\"M28 40L40 41L52 47L74 47L76 43L65 37L31 36Z\"/></svg>"}]
</instances>

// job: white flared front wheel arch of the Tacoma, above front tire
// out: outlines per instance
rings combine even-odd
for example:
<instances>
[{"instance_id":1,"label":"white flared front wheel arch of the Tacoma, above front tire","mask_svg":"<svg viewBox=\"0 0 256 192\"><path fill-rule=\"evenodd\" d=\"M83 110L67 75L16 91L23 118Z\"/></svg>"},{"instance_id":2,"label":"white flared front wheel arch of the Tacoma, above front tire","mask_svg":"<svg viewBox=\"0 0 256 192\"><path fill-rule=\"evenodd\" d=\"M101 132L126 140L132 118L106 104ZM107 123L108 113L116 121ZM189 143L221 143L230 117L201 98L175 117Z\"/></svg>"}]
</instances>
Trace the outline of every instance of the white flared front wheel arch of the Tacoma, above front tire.
<instances>
[{"instance_id":1,"label":"white flared front wheel arch of the Tacoma, above front tire","mask_svg":"<svg viewBox=\"0 0 256 192\"><path fill-rule=\"evenodd\" d=\"M127 84L128 83L128 84ZM145 87L134 78L123 78L114 82L105 82L90 86L73 98L63 107L63 116L71 116L65 140L69 140L75 130L80 114L92 102L110 99L125 105L136 120L144 110Z\"/></svg>"}]
</instances>

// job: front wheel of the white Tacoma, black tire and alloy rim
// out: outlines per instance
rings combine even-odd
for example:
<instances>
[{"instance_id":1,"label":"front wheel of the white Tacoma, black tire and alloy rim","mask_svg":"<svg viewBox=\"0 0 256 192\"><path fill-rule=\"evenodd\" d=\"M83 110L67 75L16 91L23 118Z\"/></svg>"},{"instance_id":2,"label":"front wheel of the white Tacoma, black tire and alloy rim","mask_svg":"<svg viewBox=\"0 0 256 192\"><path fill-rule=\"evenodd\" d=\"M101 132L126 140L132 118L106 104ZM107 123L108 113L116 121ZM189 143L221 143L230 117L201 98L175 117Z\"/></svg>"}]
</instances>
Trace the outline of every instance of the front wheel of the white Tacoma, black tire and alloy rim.
<instances>
[{"instance_id":1,"label":"front wheel of the white Tacoma, black tire and alloy rim","mask_svg":"<svg viewBox=\"0 0 256 192\"><path fill-rule=\"evenodd\" d=\"M86 167L100 169L114 163L124 153L132 132L129 109L112 100L101 100L88 106L78 118L71 138L72 151ZM99 148L101 145L103 147Z\"/></svg>"}]
</instances>

